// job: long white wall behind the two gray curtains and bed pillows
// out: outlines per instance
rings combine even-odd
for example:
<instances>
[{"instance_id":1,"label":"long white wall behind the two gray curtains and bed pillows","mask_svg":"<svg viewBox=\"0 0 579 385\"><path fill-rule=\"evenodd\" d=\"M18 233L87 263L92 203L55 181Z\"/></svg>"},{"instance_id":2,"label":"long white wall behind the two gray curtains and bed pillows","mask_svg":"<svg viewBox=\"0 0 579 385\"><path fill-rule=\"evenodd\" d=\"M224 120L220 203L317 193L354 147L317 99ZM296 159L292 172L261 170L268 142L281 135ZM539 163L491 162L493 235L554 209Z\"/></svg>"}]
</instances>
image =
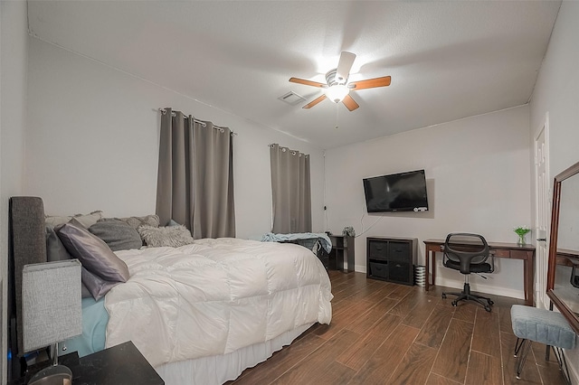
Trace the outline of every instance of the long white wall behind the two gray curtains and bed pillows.
<instances>
[{"instance_id":1,"label":"long white wall behind the two gray curtains and bed pillows","mask_svg":"<svg viewBox=\"0 0 579 385\"><path fill-rule=\"evenodd\" d=\"M323 229L320 149L35 38L30 42L25 192L43 197L50 214L154 212L157 108L164 107L238 133L233 139L238 237L261 239L271 230L271 143L311 155L313 230Z\"/></svg>"}]
</instances>

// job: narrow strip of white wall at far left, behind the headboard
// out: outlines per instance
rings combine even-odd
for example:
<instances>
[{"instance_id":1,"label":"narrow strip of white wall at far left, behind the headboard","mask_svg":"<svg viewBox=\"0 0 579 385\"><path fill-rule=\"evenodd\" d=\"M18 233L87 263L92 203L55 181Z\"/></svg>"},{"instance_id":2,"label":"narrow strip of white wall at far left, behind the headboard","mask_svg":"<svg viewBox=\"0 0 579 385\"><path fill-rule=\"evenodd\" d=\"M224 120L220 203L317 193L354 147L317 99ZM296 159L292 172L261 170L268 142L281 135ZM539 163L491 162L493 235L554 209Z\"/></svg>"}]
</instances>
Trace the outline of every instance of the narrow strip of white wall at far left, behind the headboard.
<instances>
[{"instance_id":1,"label":"narrow strip of white wall at far left, behind the headboard","mask_svg":"<svg viewBox=\"0 0 579 385\"><path fill-rule=\"evenodd\" d=\"M26 3L0 2L0 383L6 381L8 200L22 194L28 23Z\"/></svg>"}]
</instances>

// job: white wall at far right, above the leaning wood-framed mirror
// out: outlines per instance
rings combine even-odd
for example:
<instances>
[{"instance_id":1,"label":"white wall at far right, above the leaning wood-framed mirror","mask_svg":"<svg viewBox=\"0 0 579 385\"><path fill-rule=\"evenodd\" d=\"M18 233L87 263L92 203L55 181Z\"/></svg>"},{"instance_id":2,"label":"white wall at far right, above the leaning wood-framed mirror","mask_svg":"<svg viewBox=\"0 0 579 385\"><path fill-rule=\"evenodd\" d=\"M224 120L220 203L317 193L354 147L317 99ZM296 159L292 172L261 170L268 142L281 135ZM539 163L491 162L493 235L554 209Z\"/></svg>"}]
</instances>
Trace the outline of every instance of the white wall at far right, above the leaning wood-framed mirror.
<instances>
[{"instance_id":1,"label":"white wall at far right, above the leaning wood-framed mirror","mask_svg":"<svg viewBox=\"0 0 579 385\"><path fill-rule=\"evenodd\" d=\"M579 162L579 3L564 1L530 102L532 137L549 114L551 179ZM534 213L535 215L535 213ZM579 383L579 351L565 351L573 383Z\"/></svg>"}]
</instances>

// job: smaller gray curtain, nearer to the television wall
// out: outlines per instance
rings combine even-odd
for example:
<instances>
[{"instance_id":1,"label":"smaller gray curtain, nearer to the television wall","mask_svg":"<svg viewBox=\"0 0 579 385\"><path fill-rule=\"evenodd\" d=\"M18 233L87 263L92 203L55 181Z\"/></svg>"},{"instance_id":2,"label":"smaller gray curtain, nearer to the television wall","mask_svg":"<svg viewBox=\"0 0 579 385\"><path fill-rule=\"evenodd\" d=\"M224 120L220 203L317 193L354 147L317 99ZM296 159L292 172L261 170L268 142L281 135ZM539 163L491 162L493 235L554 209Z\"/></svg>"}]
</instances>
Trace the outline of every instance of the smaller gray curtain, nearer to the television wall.
<instances>
[{"instance_id":1,"label":"smaller gray curtain, nearer to the television wall","mask_svg":"<svg viewBox=\"0 0 579 385\"><path fill-rule=\"evenodd\" d=\"M270 146L274 233L311 231L309 155Z\"/></svg>"}]
</instances>

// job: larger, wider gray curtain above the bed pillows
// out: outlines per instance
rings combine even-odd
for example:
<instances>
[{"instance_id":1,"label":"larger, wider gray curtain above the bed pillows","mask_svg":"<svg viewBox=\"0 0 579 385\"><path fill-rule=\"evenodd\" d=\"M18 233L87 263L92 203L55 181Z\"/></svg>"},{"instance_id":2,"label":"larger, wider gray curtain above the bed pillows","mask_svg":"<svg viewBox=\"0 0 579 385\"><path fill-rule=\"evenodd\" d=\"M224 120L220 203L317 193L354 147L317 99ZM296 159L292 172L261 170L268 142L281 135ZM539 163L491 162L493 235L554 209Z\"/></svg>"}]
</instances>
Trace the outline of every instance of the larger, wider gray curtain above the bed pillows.
<instances>
[{"instance_id":1,"label":"larger, wider gray curtain above the bed pillows","mask_svg":"<svg viewBox=\"0 0 579 385\"><path fill-rule=\"evenodd\" d=\"M174 220L195 239L235 237L233 136L166 108L161 116L157 215Z\"/></svg>"}]
</instances>

